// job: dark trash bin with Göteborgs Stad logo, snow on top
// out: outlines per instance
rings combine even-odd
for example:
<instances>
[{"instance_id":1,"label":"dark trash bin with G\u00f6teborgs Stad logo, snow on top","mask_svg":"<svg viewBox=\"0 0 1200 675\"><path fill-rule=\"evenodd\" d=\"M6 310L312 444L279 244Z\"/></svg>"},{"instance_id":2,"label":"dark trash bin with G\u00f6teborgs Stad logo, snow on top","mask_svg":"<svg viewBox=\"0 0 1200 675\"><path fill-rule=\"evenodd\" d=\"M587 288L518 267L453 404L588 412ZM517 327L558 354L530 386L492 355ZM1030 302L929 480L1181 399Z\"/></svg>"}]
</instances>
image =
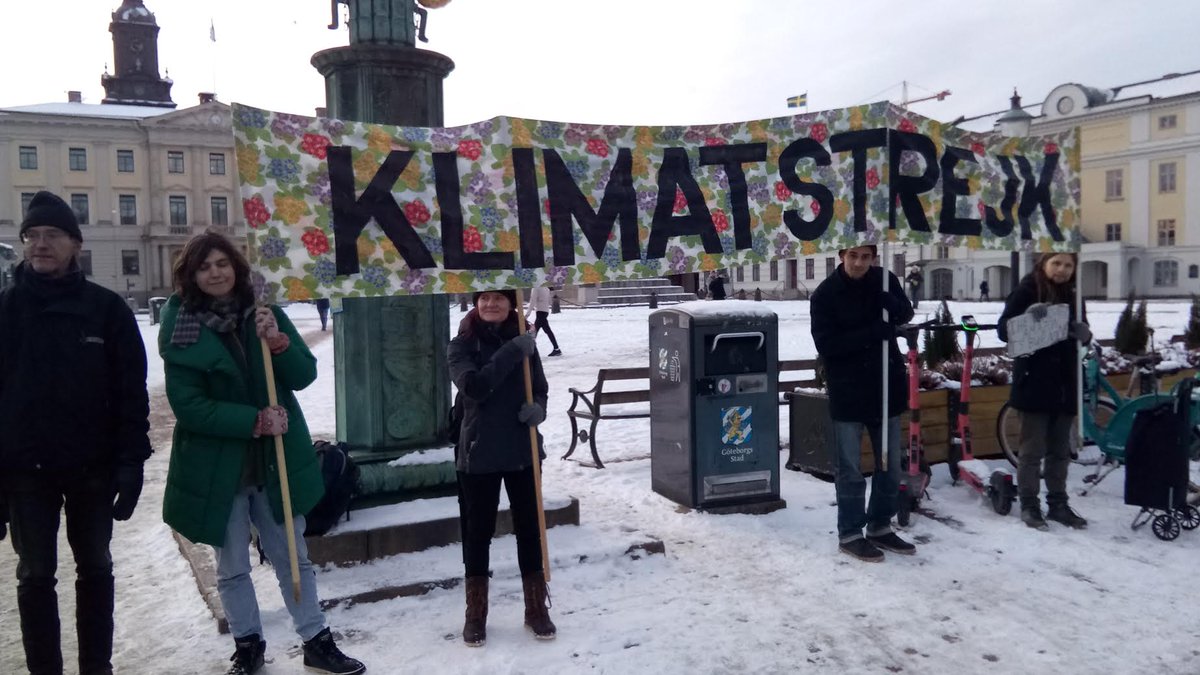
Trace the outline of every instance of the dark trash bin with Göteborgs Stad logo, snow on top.
<instances>
[{"instance_id":1,"label":"dark trash bin with G\u00f6teborgs Stad logo, snow on top","mask_svg":"<svg viewBox=\"0 0 1200 675\"><path fill-rule=\"evenodd\" d=\"M766 513L779 498L778 318L692 301L650 315L650 479L692 508Z\"/></svg>"}]
</instances>

